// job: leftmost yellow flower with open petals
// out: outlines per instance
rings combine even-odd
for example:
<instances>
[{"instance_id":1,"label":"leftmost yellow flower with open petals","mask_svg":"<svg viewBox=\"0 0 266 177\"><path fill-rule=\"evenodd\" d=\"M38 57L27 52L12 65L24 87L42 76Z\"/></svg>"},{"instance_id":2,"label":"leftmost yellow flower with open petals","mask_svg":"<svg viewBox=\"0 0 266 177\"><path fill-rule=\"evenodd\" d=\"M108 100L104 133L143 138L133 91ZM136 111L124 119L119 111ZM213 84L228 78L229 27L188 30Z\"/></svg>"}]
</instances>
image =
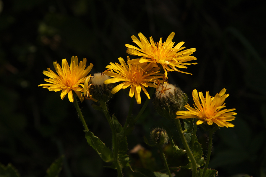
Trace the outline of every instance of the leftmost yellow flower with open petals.
<instances>
[{"instance_id":1,"label":"leftmost yellow flower with open petals","mask_svg":"<svg viewBox=\"0 0 266 177\"><path fill-rule=\"evenodd\" d=\"M48 71L43 71L43 74L50 77L49 79L44 79L44 81L49 83L40 84L38 86L43 86L43 88L48 89L49 91L60 91L61 99L63 100L66 95L68 95L68 99L70 102L73 102L73 93L72 90L77 94L80 101L83 101L84 98L82 96L82 92L84 92L84 85L82 83L85 82L86 78L89 77L87 74L93 67L93 64L90 63L90 66L86 67L86 58L83 61L78 63L77 57L71 58L70 67L67 63L66 59L62 60L62 68L55 61L53 62L53 66L56 69L56 73L54 73L50 68Z\"/></svg>"}]
</instances>

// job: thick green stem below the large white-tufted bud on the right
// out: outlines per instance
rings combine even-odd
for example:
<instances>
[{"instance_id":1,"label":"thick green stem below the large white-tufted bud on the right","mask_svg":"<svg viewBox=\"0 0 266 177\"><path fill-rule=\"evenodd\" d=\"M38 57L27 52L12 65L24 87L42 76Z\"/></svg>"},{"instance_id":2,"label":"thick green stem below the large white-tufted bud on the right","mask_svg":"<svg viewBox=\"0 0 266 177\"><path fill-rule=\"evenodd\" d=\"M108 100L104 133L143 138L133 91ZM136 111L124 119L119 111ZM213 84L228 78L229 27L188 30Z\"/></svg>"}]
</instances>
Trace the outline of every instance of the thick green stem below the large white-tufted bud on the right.
<instances>
[{"instance_id":1,"label":"thick green stem below the large white-tufted bud on the right","mask_svg":"<svg viewBox=\"0 0 266 177\"><path fill-rule=\"evenodd\" d=\"M189 145L187 144L186 142L186 139L185 139L185 136L184 136L184 133L183 133L183 130L182 130L182 127L181 127L181 123L180 123L180 120L179 119L175 119L175 122L176 122L176 126L177 126L177 129L178 129L178 133L179 133L179 136L181 138L181 141L184 145L184 148L186 150L186 154L189 156L190 160L191 160L191 163L192 163L192 177L196 177L197 176L197 163L196 163L196 160L189 148Z\"/></svg>"}]
</instances>

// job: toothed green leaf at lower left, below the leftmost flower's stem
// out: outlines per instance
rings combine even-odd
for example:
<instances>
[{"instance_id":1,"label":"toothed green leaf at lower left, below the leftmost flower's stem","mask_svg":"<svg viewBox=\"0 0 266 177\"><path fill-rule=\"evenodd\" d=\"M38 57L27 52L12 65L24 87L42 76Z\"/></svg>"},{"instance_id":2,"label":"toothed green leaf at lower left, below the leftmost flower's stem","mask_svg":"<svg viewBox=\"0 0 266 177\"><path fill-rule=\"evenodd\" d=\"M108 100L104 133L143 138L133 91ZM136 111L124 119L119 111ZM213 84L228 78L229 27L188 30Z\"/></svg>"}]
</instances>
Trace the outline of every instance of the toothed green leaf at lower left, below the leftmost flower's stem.
<instances>
[{"instance_id":1,"label":"toothed green leaf at lower left, below the leftmost flower's stem","mask_svg":"<svg viewBox=\"0 0 266 177\"><path fill-rule=\"evenodd\" d=\"M100 155L100 157L105 162L113 161L113 153L112 151L106 147L106 145L96 136L94 136L93 132L85 130L85 137L89 145Z\"/></svg>"}]
</instances>

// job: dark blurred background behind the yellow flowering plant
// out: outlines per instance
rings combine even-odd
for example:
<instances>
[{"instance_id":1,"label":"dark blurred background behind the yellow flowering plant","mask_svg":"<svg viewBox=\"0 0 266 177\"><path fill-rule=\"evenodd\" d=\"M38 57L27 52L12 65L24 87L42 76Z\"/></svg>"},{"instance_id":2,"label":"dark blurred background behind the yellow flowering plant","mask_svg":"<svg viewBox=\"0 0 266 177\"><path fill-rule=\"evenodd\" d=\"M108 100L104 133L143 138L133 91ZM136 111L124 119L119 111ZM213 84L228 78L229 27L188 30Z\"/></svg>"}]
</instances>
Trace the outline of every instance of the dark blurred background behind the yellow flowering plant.
<instances>
[{"instance_id":1,"label":"dark blurred background behind the yellow flowering plant","mask_svg":"<svg viewBox=\"0 0 266 177\"><path fill-rule=\"evenodd\" d=\"M53 61L70 61L71 56L93 63L91 74L103 72L110 62L126 59L124 45L134 45L131 35L141 32L165 41L175 32L176 44L184 41L186 48L196 48L198 64L184 70L192 76L170 73L169 82L189 98L193 89L214 96L226 88L226 106L238 113L231 122L234 128L221 128L214 135L210 168L219 176L266 176L265 8L266 2L247 0L0 0L0 162L12 163L23 177L37 177L45 176L49 165L65 154L60 176L116 176L87 145L67 97L61 101L59 92L38 87L47 78L42 72L54 71ZM122 124L129 100L120 91L109 102L110 113ZM90 130L110 147L111 130L103 114L91 101L80 106ZM140 108L135 105L134 115ZM142 154L131 153L133 168L163 168L155 148L143 142L143 135L148 137L162 123L171 126L151 103L128 137L129 150L138 143L145 148ZM206 136L199 129L204 150ZM171 154L168 162L182 164Z\"/></svg>"}]
</instances>

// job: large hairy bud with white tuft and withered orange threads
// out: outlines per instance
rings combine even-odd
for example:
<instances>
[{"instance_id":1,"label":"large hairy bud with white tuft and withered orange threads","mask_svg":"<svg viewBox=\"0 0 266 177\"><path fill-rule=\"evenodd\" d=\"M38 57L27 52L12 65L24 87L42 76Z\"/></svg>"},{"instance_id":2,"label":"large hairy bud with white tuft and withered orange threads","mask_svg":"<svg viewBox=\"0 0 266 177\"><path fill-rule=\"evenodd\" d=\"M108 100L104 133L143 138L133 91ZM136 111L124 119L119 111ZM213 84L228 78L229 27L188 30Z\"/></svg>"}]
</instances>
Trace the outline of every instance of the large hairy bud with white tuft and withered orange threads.
<instances>
[{"instance_id":1,"label":"large hairy bud with white tuft and withered orange threads","mask_svg":"<svg viewBox=\"0 0 266 177\"><path fill-rule=\"evenodd\" d=\"M159 84L156 88L154 108L163 117L174 119L175 113L184 108L187 96L183 91L170 83Z\"/></svg>"}]
</instances>

